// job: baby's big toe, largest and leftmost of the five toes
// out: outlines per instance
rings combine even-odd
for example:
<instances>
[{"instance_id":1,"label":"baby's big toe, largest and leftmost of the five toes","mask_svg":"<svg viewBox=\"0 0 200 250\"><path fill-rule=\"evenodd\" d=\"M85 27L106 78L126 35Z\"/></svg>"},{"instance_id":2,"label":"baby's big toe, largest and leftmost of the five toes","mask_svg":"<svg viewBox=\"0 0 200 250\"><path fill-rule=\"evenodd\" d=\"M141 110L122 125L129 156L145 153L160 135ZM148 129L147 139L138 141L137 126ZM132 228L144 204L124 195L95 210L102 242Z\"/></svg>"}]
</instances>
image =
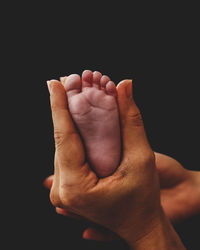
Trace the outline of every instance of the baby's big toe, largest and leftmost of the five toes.
<instances>
[{"instance_id":1,"label":"baby's big toe, largest and leftmost of the five toes","mask_svg":"<svg viewBox=\"0 0 200 250\"><path fill-rule=\"evenodd\" d=\"M64 83L65 90L67 92L67 96L71 97L80 93L81 91L81 78L77 74L72 74L68 76Z\"/></svg>"}]
</instances>

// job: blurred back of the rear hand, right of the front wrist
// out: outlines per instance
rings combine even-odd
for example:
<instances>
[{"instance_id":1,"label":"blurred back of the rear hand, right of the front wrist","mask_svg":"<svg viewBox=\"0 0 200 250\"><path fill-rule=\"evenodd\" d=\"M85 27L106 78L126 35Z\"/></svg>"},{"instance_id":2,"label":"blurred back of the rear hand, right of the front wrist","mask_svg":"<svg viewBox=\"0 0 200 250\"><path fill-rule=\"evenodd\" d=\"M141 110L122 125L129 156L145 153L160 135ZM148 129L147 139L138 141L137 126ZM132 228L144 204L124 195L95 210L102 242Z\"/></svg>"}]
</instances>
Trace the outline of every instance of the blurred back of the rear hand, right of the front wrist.
<instances>
[{"instance_id":1,"label":"blurred back of the rear hand, right of the front wrist","mask_svg":"<svg viewBox=\"0 0 200 250\"><path fill-rule=\"evenodd\" d=\"M175 159L156 153L161 204L172 223L200 213L200 171L191 171Z\"/></svg>"}]
</instances>

